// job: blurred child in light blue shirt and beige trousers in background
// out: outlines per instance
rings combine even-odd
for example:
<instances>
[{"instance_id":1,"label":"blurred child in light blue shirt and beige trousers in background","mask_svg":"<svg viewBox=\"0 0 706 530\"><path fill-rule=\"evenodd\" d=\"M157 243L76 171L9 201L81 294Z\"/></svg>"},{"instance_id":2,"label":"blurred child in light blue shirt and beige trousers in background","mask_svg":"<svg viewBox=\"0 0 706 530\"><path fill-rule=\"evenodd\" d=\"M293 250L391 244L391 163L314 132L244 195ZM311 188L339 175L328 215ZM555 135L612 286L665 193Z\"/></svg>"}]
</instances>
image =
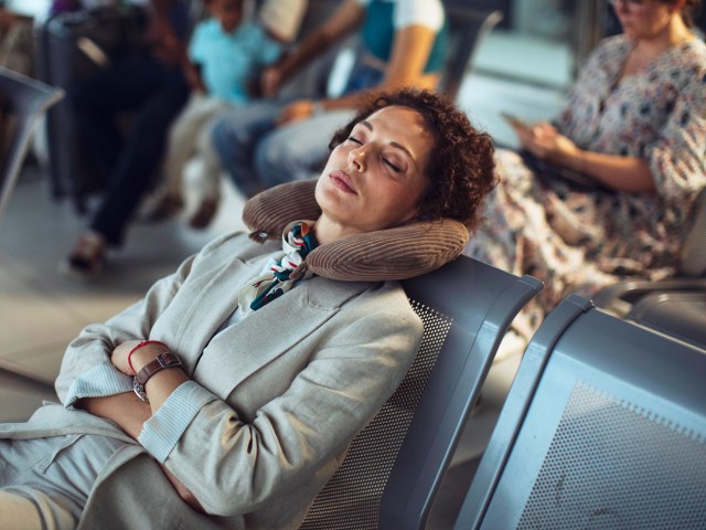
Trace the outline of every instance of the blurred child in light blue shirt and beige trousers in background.
<instances>
[{"instance_id":1,"label":"blurred child in light blue shirt and beige trousers in background","mask_svg":"<svg viewBox=\"0 0 706 530\"><path fill-rule=\"evenodd\" d=\"M248 83L281 52L260 25L243 21L243 3L244 0L206 0L211 18L194 29L188 66L192 95L169 134L164 184L151 213L153 220L170 216L183 206L182 173L194 150L200 159L197 177L202 190L191 225L205 227L216 212L221 163L211 148L211 121L234 106L247 104Z\"/></svg>"}]
</instances>

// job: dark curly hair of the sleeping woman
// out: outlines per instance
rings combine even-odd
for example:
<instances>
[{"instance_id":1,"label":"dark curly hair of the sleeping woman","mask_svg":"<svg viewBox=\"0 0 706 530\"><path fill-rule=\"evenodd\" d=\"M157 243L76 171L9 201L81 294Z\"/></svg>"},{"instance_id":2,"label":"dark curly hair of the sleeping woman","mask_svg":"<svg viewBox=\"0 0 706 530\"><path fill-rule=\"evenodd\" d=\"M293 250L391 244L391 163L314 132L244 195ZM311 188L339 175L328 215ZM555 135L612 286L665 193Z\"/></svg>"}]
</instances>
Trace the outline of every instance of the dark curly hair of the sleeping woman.
<instances>
[{"instance_id":1,"label":"dark curly hair of the sleeping woman","mask_svg":"<svg viewBox=\"0 0 706 530\"><path fill-rule=\"evenodd\" d=\"M475 130L450 98L413 88L377 93L362 102L355 117L335 132L329 147L333 149L345 141L353 127L376 110L392 106L416 110L434 138L425 168L429 183L418 219L450 218L474 229L483 200L495 186L494 147L491 137Z\"/></svg>"}]
</instances>

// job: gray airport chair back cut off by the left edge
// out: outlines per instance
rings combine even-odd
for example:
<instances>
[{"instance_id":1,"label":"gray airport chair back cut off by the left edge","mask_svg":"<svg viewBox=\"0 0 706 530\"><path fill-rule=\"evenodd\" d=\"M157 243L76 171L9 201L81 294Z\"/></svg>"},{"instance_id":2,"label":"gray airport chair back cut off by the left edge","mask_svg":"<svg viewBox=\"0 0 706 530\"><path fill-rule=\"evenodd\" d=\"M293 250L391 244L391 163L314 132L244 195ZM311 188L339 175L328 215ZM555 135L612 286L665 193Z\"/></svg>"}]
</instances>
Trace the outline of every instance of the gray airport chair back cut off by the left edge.
<instances>
[{"instance_id":1,"label":"gray airport chair back cut off by the left edge","mask_svg":"<svg viewBox=\"0 0 706 530\"><path fill-rule=\"evenodd\" d=\"M0 67L0 99L3 103L3 152L0 155L0 215L22 169L38 120L63 97L63 91Z\"/></svg>"}]
</instances>

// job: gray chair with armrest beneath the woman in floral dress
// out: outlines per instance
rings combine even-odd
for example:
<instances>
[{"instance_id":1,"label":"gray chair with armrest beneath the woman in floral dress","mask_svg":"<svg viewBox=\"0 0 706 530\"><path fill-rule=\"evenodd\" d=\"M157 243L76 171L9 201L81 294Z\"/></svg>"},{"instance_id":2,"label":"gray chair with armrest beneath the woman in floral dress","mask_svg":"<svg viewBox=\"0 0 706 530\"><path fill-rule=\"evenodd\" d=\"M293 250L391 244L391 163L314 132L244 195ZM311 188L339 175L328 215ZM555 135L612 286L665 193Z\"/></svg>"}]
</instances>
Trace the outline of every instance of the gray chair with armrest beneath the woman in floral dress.
<instances>
[{"instance_id":1,"label":"gray chair with armrest beneath the woman in floral dress","mask_svg":"<svg viewBox=\"0 0 706 530\"><path fill-rule=\"evenodd\" d=\"M706 189L695 208L677 277L619 282L597 293L595 303L622 318L706 348Z\"/></svg>"}]
</instances>

